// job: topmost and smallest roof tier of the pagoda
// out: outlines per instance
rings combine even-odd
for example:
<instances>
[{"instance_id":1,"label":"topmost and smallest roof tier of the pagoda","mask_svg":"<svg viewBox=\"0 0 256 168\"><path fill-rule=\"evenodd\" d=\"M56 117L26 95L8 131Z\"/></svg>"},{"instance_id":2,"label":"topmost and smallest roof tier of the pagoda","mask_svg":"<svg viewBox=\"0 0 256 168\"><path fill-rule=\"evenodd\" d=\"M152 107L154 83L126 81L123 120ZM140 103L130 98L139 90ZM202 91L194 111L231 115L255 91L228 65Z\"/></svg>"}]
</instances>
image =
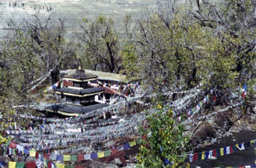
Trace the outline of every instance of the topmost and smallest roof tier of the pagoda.
<instances>
[{"instance_id":1,"label":"topmost and smallest roof tier of the pagoda","mask_svg":"<svg viewBox=\"0 0 256 168\"><path fill-rule=\"evenodd\" d=\"M68 79L71 81L90 81L97 79L97 75L92 73L86 73L83 69L78 69L75 71L75 73L70 73L63 77L63 79Z\"/></svg>"}]
</instances>

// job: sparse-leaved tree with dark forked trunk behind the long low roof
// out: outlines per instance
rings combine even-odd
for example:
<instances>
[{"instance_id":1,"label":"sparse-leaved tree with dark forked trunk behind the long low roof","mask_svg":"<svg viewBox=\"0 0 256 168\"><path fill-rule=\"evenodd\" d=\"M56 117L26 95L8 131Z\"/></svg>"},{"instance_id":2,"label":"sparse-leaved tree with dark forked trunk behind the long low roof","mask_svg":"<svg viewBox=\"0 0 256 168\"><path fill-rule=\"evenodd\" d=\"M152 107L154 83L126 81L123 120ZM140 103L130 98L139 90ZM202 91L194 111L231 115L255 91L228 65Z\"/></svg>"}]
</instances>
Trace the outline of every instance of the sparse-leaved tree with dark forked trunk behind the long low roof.
<instances>
[{"instance_id":1,"label":"sparse-leaved tree with dark forked trunk behind the long low roof","mask_svg":"<svg viewBox=\"0 0 256 168\"><path fill-rule=\"evenodd\" d=\"M80 24L82 33L77 33L78 39L83 42L86 49L86 61L92 65L94 70L97 66L102 71L110 71L118 73L120 67L118 62L118 35L114 29L113 20L103 15L99 15L97 20L89 23L84 19Z\"/></svg>"}]
</instances>

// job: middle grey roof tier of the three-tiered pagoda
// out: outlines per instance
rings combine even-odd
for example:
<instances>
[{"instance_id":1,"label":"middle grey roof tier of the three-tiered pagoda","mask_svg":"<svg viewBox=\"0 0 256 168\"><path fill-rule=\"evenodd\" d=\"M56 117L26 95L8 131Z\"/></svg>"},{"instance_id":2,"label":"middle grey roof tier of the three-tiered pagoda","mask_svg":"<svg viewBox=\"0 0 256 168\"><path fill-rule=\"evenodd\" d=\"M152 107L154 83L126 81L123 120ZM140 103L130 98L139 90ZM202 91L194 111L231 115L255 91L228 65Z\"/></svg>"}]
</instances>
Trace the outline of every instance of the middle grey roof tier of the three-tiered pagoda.
<instances>
[{"instance_id":1,"label":"middle grey roof tier of the three-tiered pagoda","mask_svg":"<svg viewBox=\"0 0 256 168\"><path fill-rule=\"evenodd\" d=\"M69 87L61 87L54 89L56 93L63 93L64 95L78 96L78 97L86 97L90 95L96 95L105 91L103 88L99 87L91 87L88 89L73 89Z\"/></svg>"}]
</instances>

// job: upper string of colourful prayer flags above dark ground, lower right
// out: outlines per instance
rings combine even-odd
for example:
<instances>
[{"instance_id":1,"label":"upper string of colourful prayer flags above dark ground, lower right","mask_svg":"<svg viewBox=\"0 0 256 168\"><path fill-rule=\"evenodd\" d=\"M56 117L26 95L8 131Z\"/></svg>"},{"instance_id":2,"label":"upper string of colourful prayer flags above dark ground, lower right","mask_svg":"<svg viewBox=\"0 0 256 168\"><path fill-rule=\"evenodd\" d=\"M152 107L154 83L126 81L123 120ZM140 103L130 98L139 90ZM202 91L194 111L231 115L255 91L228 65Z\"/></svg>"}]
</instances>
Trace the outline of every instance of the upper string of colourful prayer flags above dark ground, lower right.
<instances>
[{"instance_id":1,"label":"upper string of colourful prayer flags above dark ground, lower right","mask_svg":"<svg viewBox=\"0 0 256 168\"><path fill-rule=\"evenodd\" d=\"M218 157L218 156L225 156L228 154L232 154L236 151L242 151L245 149L245 145L247 147L255 146L256 140L249 140L246 143L238 143L236 145L229 145L227 147L213 149L211 151L192 153L192 154L189 154L189 162L198 161L198 160L206 160L206 159L216 159L216 157Z\"/></svg>"}]
</instances>

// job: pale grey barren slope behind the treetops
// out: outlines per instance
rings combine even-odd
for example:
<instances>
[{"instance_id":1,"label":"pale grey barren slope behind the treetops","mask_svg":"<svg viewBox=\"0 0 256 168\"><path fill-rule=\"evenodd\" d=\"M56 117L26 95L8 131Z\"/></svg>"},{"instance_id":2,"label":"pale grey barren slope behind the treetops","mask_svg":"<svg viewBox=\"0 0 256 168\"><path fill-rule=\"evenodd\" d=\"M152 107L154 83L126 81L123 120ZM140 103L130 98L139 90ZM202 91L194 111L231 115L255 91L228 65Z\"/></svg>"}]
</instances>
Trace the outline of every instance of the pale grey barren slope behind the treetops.
<instances>
[{"instance_id":1,"label":"pale grey barren slope behind the treetops","mask_svg":"<svg viewBox=\"0 0 256 168\"><path fill-rule=\"evenodd\" d=\"M31 20L32 15L43 18L56 12L55 18L65 20L67 34L72 35L79 31L78 23L83 17L91 19L102 14L121 24L124 15L131 15L136 20L156 7L157 0L2 0L0 37L3 38L7 33L7 23L10 20L23 23L24 20Z\"/></svg>"}]
</instances>

